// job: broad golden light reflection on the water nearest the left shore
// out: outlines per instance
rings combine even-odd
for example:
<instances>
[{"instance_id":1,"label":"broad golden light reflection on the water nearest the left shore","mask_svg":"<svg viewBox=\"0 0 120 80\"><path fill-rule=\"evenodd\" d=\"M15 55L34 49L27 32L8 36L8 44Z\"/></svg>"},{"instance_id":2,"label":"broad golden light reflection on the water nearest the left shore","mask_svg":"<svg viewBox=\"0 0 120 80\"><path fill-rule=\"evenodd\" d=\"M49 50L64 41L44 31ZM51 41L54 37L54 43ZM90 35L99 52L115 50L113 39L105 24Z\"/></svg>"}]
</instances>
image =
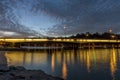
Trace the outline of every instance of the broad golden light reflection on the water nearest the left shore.
<instances>
[{"instance_id":1,"label":"broad golden light reflection on the water nearest the left shore","mask_svg":"<svg viewBox=\"0 0 120 80\"><path fill-rule=\"evenodd\" d=\"M7 52L6 53L8 65L36 65L46 64L47 55L45 53L39 54L39 52Z\"/></svg>"}]
</instances>

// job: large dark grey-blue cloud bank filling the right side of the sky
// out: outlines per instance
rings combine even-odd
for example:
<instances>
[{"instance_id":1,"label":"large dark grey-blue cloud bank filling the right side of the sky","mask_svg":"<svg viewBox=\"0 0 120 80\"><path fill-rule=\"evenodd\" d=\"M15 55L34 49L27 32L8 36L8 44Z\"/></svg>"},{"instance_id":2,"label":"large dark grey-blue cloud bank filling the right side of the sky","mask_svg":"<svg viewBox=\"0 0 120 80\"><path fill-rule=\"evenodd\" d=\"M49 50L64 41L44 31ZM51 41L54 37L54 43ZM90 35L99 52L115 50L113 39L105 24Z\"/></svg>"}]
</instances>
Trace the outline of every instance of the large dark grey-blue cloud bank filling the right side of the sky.
<instances>
[{"instance_id":1,"label":"large dark grey-blue cloud bank filling the right side of the sky","mask_svg":"<svg viewBox=\"0 0 120 80\"><path fill-rule=\"evenodd\" d=\"M112 28L119 32L119 0L38 0L36 11L42 10L48 15L63 20L49 30L57 35L78 32L104 32Z\"/></svg>"}]
</instances>

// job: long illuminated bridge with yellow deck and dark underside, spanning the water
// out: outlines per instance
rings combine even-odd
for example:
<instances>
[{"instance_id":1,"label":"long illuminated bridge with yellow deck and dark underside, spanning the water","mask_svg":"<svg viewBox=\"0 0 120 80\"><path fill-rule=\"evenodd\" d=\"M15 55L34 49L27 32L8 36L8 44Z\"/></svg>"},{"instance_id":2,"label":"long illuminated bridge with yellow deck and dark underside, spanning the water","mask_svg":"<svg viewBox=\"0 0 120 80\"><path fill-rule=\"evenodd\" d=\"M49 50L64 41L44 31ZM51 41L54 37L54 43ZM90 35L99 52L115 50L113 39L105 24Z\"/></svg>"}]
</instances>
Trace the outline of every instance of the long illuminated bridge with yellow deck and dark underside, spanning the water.
<instances>
[{"instance_id":1,"label":"long illuminated bridge with yellow deck and dark underside, spanning the water","mask_svg":"<svg viewBox=\"0 0 120 80\"><path fill-rule=\"evenodd\" d=\"M20 38L0 39L1 47L120 47L120 40L103 39L58 39L58 38Z\"/></svg>"}]
</instances>

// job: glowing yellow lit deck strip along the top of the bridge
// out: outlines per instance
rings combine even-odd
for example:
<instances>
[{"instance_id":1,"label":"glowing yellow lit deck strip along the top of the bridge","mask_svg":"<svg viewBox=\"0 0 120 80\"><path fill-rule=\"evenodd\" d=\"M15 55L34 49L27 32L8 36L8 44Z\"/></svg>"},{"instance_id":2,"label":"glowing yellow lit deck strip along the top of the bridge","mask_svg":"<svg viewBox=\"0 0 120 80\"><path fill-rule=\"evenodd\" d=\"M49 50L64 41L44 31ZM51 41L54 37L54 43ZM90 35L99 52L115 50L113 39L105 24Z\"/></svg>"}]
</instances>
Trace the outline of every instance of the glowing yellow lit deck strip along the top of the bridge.
<instances>
[{"instance_id":1,"label":"glowing yellow lit deck strip along the top of the bridge","mask_svg":"<svg viewBox=\"0 0 120 80\"><path fill-rule=\"evenodd\" d=\"M0 39L4 42L73 42L73 43L86 43L86 42L113 42L119 43L120 40L103 40L103 39L30 39L30 38L20 38L20 39Z\"/></svg>"}]
</instances>

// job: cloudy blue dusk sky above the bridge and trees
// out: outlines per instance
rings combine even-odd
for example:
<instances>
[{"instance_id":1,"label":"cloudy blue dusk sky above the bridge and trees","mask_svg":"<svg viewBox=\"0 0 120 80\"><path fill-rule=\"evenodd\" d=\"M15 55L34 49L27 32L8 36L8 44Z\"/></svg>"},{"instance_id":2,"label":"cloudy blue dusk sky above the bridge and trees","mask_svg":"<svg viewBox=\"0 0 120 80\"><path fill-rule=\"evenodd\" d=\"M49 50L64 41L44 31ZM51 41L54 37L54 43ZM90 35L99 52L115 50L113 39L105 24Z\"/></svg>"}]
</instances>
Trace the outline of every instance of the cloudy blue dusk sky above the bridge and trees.
<instances>
[{"instance_id":1,"label":"cloudy blue dusk sky above the bridge and trees","mask_svg":"<svg viewBox=\"0 0 120 80\"><path fill-rule=\"evenodd\" d=\"M0 0L0 36L120 32L120 0Z\"/></svg>"}]
</instances>

